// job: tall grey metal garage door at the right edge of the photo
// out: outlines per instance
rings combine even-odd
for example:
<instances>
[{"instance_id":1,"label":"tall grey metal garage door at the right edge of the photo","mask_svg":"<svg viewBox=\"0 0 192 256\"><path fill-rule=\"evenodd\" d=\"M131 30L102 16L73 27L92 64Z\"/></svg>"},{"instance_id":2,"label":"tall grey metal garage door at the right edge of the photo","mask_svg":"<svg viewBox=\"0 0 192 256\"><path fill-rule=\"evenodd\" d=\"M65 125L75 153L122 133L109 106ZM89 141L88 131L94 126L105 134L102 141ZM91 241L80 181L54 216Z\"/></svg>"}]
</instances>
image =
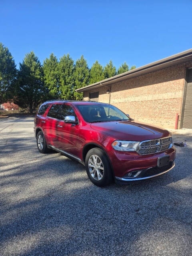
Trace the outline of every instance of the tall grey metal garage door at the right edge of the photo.
<instances>
[{"instance_id":1,"label":"tall grey metal garage door at the right edge of the photo","mask_svg":"<svg viewBox=\"0 0 192 256\"><path fill-rule=\"evenodd\" d=\"M188 72L183 128L192 129L192 69Z\"/></svg>"}]
</instances>

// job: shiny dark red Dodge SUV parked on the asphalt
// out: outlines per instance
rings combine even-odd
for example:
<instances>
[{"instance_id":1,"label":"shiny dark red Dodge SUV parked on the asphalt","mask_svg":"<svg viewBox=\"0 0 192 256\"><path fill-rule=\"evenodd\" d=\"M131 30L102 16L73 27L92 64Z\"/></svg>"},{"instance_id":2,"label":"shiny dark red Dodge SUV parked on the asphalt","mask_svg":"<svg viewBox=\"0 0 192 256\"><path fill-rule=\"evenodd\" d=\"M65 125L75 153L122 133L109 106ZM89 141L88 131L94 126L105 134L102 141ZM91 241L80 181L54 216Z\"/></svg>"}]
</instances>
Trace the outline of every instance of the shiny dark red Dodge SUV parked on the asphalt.
<instances>
[{"instance_id":1,"label":"shiny dark red Dodge SUV parked on the asphalt","mask_svg":"<svg viewBox=\"0 0 192 256\"><path fill-rule=\"evenodd\" d=\"M41 153L52 149L77 160L97 186L153 178L175 165L170 132L106 103L47 101L34 118L34 134Z\"/></svg>"}]
</instances>

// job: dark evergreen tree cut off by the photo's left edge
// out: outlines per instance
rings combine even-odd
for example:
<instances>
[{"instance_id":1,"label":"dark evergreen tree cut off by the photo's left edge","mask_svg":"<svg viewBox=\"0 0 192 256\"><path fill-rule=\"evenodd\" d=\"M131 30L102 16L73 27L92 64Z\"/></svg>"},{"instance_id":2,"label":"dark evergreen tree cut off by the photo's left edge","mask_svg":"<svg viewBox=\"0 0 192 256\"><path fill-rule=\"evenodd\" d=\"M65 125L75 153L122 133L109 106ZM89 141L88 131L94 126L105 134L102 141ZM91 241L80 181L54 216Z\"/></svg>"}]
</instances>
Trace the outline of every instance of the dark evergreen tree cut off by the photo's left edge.
<instances>
[{"instance_id":1,"label":"dark evergreen tree cut off by the photo's left edge","mask_svg":"<svg viewBox=\"0 0 192 256\"><path fill-rule=\"evenodd\" d=\"M0 104L10 100L16 81L16 65L7 47L0 43Z\"/></svg>"}]
</instances>

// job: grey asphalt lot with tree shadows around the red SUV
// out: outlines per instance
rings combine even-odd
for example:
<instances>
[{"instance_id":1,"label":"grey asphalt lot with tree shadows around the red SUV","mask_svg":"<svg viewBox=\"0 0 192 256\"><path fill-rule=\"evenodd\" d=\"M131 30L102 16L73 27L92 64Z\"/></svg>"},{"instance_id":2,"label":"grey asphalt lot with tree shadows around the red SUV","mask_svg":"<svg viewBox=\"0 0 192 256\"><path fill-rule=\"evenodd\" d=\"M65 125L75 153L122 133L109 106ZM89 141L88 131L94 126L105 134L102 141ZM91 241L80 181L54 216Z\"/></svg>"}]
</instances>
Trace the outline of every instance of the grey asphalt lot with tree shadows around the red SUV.
<instances>
[{"instance_id":1,"label":"grey asphalt lot with tree shadows around the red SUV","mask_svg":"<svg viewBox=\"0 0 192 256\"><path fill-rule=\"evenodd\" d=\"M33 118L0 120L0 255L192 255L192 132L176 167L94 186L60 153L40 154Z\"/></svg>"}]
</instances>

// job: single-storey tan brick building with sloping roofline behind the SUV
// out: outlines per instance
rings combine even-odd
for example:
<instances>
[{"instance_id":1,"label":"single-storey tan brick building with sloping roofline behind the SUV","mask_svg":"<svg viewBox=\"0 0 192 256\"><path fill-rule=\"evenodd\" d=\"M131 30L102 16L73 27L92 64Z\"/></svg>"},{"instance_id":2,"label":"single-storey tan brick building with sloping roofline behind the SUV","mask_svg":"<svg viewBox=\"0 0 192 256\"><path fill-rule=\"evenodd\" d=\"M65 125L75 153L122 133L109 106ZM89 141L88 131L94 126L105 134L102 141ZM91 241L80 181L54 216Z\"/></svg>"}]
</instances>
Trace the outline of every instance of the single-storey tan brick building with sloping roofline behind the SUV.
<instances>
[{"instance_id":1,"label":"single-storey tan brick building with sloping roofline behind the SUV","mask_svg":"<svg viewBox=\"0 0 192 256\"><path fill-rule=\"evenodd\" d=\"M84 100L110 103L132 118L192 129L192 49L82 87Z\"/></svg>"}]
</instances>

